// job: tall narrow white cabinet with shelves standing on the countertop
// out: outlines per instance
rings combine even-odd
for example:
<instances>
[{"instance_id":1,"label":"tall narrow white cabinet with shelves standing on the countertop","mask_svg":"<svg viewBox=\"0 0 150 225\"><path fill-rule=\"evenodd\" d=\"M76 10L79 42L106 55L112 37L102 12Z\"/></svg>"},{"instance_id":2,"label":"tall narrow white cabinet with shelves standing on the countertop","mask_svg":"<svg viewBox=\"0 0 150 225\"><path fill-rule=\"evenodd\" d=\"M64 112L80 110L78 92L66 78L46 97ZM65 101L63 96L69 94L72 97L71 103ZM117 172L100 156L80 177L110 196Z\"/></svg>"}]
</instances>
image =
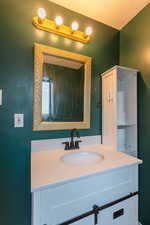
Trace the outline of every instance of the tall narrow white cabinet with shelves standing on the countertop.
<instances>
[{"instance_id":1,"label":"tall narrow white cabinet with shelves standing on the countertop","mask_svg":"<svg viewBox=\"0 0 150 225\"><path fill-rule=\"evenodd\" d=\"M137 156L137 70L115 66L102 74L102 143Z\"/></svg>"}]
</instances>

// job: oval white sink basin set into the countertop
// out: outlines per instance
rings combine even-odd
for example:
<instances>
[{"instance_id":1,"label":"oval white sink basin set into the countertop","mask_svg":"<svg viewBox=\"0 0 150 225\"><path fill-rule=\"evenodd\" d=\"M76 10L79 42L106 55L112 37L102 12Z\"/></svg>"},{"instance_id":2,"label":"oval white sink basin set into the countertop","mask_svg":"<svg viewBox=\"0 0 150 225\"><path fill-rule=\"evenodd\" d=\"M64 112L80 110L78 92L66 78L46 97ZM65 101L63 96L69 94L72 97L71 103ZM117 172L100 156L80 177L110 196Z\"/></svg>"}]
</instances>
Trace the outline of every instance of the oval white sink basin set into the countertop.
<instances>
[{"instance_id":1,"label":"oval white sink basin set into the countertop","mask_svg":"<svg viewBox=\"0 0 150 225\"><path fill-rule=\"evenodd\" d=\"M75 152L70 152L63 155L60 159L67 164L83 165L100 163L104 157L98 152L75 150Z\"/></svg>"}]
</instances>

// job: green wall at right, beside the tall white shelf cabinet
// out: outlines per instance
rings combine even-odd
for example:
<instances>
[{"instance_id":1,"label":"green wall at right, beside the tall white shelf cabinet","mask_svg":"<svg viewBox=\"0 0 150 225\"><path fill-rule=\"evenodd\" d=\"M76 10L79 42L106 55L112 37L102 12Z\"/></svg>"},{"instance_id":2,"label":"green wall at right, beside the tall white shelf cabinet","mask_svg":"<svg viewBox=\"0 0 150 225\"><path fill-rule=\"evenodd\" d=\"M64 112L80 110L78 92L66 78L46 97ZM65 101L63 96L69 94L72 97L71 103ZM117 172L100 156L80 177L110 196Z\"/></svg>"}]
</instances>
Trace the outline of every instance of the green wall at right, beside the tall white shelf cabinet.
<instances>
[{"instance_id":1,"label":"green wall at right, beside the tall white shelf cabinet","mask_svg":"<svg viewBox=\"0 0 150 225\"><path fill-rule=\"evenodd\" d=\"M140 71L138 79L140 219L150 224L150 4L120 33L120 64Z\"/></svg>"}]
</instances>

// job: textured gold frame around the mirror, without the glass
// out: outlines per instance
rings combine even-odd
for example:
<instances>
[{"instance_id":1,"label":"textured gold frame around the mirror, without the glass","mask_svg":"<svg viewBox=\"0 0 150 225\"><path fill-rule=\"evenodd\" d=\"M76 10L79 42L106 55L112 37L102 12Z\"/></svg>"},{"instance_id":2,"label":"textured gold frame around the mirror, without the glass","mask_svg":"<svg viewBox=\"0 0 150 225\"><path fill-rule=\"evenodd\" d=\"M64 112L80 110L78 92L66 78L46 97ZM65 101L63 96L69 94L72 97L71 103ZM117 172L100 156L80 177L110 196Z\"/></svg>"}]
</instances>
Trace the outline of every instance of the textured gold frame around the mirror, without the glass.
<instances>
[{"instance_id":1,"label":"textured gold frame around the mirror, without the glass","mask_svg":"<svg viewBox=\"0 0 150 225\"><path fill-rule=\"evenodd\" d=\"M84 113L81 122L45 122L42 121L42 77L44 54L63 57L84 64ZM90 128L90 108L91 108L91 57L72 53L65 50L49 47L41 44L34 44L34 110L33 110L33 130L69 130L73 128Z\"/></svg>"}]
</instances>

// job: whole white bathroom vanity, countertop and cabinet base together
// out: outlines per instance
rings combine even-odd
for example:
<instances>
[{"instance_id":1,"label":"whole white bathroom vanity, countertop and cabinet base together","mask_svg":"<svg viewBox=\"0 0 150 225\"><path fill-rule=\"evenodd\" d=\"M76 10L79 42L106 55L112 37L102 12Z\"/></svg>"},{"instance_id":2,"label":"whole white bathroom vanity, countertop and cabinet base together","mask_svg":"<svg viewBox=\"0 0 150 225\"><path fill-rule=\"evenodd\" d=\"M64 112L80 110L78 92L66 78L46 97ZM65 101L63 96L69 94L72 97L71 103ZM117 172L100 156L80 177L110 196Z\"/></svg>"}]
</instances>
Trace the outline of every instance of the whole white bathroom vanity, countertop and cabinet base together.
<instances>
[{"instance_id":1,"label":"whole white bathroom vanity, countertop and cabinet base together","mask_svg":"<svg viewBox=\"0 0 150 225\"><path fill-rule=\"evenodd\" d=\"M83 155L94 152L103 158L93 163L84 163L84 157L83 163L64 161L75 151ZM33 152L32 225L71 224L66 221L93 210L94 205L103 206L137 193L140 163L141 160L104 145ZM72 224L138 225L138 195Z\"/></svg>"}]
</instances>

